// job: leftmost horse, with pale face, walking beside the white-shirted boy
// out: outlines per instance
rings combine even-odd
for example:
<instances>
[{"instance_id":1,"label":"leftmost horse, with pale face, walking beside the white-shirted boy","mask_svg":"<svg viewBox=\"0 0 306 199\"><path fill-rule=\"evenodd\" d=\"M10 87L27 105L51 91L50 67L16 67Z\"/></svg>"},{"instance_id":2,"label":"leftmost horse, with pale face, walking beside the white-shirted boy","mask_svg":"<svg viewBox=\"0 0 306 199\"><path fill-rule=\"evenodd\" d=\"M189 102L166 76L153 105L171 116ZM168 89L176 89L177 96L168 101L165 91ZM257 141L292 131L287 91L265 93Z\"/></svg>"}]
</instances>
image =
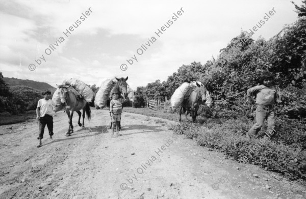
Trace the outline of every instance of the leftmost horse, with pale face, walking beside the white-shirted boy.
<instances>
[{"instance_id":1,"label":"leftmost horse, with pale face, walking beside the white-shirted boy","mask_svg":"<svg viewBox=\"0 0 306 199\"><path fill-rule=\"evenodd\" d=\"M76 111L79 115L79 121L78 124L79 126L82 126L82 128L85 128L84 126L84 118L85 118L85 113L87 116L88 121L91 119L91 110L89 103L84 99L80 98L78 99L77 96L71 91L73 88L69 88L71 86L67 85L60 85L59 86L59 97L61 100L62 106L65 108L65 112L67 113L68 116L68 123L69 123L69 128L66 133L66 136L70 136L71 133L73 133L73 125L72 125L72 117L73 117L73 112ZM70 91L69 91L70 90ZM81 119L81 111L83 110L83 123L80 123Z\"/></svg>"}]
</instances>

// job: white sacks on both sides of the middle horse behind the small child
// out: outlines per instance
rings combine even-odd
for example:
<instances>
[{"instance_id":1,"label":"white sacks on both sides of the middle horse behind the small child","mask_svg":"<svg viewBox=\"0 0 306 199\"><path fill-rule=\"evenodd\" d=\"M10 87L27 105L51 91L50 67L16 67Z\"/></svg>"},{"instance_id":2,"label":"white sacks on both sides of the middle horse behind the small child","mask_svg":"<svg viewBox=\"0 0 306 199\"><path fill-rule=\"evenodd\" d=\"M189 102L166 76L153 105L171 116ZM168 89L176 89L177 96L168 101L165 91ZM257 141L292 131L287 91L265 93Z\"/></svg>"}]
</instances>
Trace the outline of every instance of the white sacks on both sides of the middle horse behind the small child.
<instances>
[{"instance_id":1,"label":"white sacks on both sides of the middle horse behind the small child","mask_svg":"<svg viewBox=\"0 0 306 199\"><path fill-rule=\"evenodd\" d=\"M95 96L95 100L94 100L94 106L99 109L99 108L104 108L107 105L107 100L110 99L110 97L112 96L112 93L114 92L114 90L116 90L116 92L121 93L118 90L118 87L115 87L117 82L120 79L118 78L112 78L112 79L106 79L101 83L101 86L98 90L98 92L96 93ZM123 78L124 80L124 78ZM125 79L125 81L127 80L127 78ZM130 88L130 86L128 84L127 85L127 90L125 91L125 93L121 93L121 95L124 96L124 98L128 98L128 100L130 101L134 101L135 100L135 96L134 96L134 91Z\"/></svg>"}]
</instances>

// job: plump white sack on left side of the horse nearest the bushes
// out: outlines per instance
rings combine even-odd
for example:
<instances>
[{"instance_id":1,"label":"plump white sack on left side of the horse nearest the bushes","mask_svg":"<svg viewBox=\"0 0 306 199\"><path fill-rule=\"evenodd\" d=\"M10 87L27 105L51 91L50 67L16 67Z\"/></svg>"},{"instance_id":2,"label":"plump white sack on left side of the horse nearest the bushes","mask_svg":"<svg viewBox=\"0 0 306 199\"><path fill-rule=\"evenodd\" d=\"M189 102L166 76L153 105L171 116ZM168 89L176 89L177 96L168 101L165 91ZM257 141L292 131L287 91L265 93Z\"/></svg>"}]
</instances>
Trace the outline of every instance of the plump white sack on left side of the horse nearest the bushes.
<instances>
[{"instance_id":1,"label":"plump white sack on left side of the horse nearest the bushes","mask_svg":"<svg viewBox=\"0 0 306 199\"><path fill-rule=\"evenodd\" d=\"M192 92L192 90L195 88L193 84L184 82L179 88L177 88L173 95L171 96L171 107L177 108L181 105L181 103L184 101L184 98L188 96Z\"/></svg>"}]
</instances>

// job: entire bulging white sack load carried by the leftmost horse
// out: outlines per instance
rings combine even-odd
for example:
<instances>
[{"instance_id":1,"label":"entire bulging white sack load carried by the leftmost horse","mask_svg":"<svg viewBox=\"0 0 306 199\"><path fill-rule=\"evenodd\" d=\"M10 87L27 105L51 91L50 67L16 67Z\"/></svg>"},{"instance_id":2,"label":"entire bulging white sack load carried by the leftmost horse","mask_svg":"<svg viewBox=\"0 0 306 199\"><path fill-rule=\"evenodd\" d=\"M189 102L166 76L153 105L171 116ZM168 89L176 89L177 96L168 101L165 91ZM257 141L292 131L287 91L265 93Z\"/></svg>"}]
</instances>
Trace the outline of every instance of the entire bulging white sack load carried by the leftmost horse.
<instances>
[{"instance_id":1,"label":"entire bulging white sack load carried by the leftmost horse","mask_svg":"<svg viewBox=\"0 0 306 199\"><path fill-rule=\"evenodd\" d=\"M70 78L69 80L64 80L61 84L61 87L67 88L68 91L72 92L77 99L85 99L87 102L91 102L94 93L93 91L84 83L83 81L76 79L76 78ZM56 103L61 103L61 99L59 96L60 92L60 86L57 88L55 93L53 94L52 100ZM54 112L58 112L62 110L64 107L62 105L58 107L53 107Z\"/></svg>"}]
</instances>

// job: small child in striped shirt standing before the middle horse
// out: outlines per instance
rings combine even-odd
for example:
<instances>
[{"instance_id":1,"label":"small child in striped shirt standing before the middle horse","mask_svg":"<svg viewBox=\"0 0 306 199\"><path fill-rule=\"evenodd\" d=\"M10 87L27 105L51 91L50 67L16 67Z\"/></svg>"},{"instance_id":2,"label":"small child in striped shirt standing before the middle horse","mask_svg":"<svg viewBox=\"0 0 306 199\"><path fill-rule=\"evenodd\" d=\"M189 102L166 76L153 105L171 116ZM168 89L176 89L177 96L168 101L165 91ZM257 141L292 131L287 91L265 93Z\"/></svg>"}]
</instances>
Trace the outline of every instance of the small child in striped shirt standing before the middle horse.
<instances>
[{"instance_id":1,"label":"small child in striped shirt standing before the middle horse","mask_svg":"<svg viewBox=\"0 0 306 199\"><path fill-rule=\"evenodd\" d=\"M117 135L122 135L122 134L119 134L119 122L121 121L122 103L125 101L126 101L125 99L119 98L118 93L112 94L112 100L110 103L110 114L111 114L112 122L113 122L112 137L117 137ZM116 136L114 135L115 126L116 126L116 131L117 131Z\"/></svg>"}]
</instances>

